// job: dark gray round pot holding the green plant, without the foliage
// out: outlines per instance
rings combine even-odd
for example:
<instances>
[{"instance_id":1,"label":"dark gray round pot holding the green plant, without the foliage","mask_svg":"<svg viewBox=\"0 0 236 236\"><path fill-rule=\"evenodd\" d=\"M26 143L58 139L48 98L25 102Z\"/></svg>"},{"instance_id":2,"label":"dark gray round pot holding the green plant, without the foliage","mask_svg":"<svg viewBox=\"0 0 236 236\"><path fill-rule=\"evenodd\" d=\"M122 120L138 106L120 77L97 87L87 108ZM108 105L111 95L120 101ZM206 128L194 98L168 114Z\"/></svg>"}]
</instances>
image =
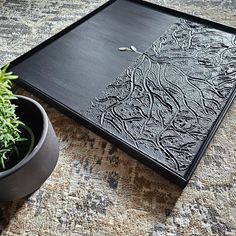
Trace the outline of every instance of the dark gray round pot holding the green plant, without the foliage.
<instances>
[{"instance_id":1,"label":"dark gray round pot holding the green plant, without the foliage","mask_svg":"<svg viewBox=\"0 0 236 236\"><path fill-rule=\"evenodd\" d=\"M0 201L13 201L37 190L50 176L59 156L57 137L42 106L31 98L14 101L20 120L35 136L32 152L11 169L0 172Z\"/></svg>"}]
</instances>

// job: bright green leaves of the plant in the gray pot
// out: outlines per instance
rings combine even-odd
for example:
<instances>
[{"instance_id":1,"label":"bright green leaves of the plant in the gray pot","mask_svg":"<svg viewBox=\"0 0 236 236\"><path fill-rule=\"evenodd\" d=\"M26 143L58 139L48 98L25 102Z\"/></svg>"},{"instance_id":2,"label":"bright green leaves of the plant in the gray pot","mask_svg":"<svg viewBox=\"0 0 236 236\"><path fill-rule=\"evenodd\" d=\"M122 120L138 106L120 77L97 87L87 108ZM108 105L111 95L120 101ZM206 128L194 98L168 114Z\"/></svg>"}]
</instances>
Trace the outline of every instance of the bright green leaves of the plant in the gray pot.
<instances>
[{"instance_id":1,"label":"bright green leaves of the plant in the gray pot","mask_svg":"<svg viewBox=\"0 0 236 236\"><path fill-rule=\"evenodd\" d=\"M18 126L22 124L15 114L15 105L11 100L17 99L12 93L12 80L18 78L12 72L6 72L8 65L0 71L0 165L5 162L14 150L15 143L20 140Z\"/></svg>"}]
</instances>

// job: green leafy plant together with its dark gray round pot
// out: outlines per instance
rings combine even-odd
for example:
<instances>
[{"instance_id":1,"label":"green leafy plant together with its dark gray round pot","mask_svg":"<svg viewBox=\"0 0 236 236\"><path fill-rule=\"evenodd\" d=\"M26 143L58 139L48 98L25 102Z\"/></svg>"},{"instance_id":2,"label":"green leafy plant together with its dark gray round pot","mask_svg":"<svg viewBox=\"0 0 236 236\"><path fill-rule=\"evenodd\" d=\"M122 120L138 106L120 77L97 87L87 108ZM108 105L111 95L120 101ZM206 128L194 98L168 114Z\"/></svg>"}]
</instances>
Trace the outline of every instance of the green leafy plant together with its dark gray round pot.
<instances>
[{"instance_id":1,"label":"green leafy plant together with its dark gray round pot","mask_svg":"<svg viewBox=\"0 0 236 236\"><path fill-rule=\"evenodd\" d=\"M0 70L0 201L13 201L37 190L56 166L58 141L43 107L15 96L5 66Z\"/></svg>"}]
</instances>

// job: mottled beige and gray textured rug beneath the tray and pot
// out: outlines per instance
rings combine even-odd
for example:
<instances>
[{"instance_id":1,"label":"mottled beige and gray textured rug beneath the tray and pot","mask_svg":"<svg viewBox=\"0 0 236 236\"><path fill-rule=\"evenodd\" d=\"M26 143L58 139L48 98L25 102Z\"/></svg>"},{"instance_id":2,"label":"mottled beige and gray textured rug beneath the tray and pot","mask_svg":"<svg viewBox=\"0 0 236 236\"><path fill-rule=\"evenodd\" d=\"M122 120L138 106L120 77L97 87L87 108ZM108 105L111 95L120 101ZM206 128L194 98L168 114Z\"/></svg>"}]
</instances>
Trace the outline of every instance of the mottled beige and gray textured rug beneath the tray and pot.
<instances>
[{"instance_id":1,"label":"mottled beige and gray textured rug beneath the tray and pot","mask_svg":"<svg viewBox=\"0 0 236 236\"><path fill-rule=\"evenodd\" d=\"M0 0L0 65L103 2ZM151 2L236 27L235 0ZM1 235L236 235L235 102L183 191L41 103L60 141L59 163L28 199L0 204Z\"/></svg>"}]
</instances>

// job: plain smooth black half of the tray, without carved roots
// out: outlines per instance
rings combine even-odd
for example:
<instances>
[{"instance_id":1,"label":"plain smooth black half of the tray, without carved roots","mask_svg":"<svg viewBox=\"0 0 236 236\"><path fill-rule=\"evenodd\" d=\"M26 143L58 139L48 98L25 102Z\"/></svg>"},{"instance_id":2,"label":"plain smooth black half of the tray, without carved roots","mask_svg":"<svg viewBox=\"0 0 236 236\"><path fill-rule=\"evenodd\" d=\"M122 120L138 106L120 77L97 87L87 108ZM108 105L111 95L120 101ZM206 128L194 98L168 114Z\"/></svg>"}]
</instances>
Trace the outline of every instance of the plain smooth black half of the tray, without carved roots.
<instances>
[{"instance_id":1,"label":"plain smooth black half of the tray, without carved roots","mask_svg":"<svg viewBox=\"0 0 236 236\"><path fill-rule=\"evenodd\" d=\"M117 1L13 68L22 80L75 112L88 105L137 55L118 51L136 45L145 50L176 17Z\"/></svg>"}]
</instances>

